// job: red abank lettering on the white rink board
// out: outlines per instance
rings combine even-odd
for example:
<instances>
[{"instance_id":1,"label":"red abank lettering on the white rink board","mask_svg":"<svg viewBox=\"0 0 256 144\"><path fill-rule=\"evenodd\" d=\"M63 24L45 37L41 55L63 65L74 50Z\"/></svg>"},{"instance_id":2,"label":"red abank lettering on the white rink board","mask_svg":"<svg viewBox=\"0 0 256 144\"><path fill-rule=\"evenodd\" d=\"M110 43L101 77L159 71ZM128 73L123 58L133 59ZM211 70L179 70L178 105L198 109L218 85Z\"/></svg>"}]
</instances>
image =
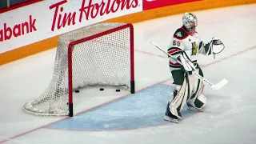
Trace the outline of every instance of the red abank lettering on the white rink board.
<instances>
[{"instance_id":1,"label":"red abank lettering on the white rink board","mask_svg":"<svg viewBox=\"0 0 256 144\"><path fill-rule=\"evenodd\" d=\"M32 18L32 15L30 15L28 21L16 24L13 27L7 26L7 24L4 23L3 30L0 30L0 42L36 31L35 22L36 19Z\"/></svg>"}]
</instances>

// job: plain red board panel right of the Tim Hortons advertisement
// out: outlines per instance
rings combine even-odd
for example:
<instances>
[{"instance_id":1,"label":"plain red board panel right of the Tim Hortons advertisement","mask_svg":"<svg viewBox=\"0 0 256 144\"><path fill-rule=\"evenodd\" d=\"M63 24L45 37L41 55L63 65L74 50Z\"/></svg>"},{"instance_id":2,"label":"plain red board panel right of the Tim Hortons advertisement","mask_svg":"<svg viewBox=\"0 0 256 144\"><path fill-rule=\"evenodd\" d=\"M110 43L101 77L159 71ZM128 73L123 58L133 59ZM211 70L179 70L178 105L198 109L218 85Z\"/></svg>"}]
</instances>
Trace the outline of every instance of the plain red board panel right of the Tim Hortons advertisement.
<instances>
[{"instance_id":1,"label":"plain red board panel right of the Tim Hortons advertisement","mask_svg":"<svg viewBox=\"0 0 256 144\"><path fill-rule=\"evenodd\" d=\"M178 5L186 2L197 2L202 0L143 0L143 10L150 10L163 6Z\"/></svg>"}]
</instances>

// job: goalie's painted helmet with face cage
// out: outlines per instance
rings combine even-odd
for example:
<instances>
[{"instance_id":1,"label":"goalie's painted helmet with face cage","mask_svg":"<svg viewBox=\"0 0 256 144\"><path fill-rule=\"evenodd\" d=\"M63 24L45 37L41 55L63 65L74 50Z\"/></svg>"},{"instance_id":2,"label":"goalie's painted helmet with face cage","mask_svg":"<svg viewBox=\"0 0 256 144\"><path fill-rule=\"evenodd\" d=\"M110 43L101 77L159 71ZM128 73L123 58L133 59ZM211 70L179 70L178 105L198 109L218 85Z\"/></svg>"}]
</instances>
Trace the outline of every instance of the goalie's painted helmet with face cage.
<instances>
[{"instance_id":1,"label":"goalie's painted helmet with face cage","mask_svg":"<svg viewBox=\"0 0 256 144\"><path fill-rule=\"evenodd\" d=\"M194 34L196 32L195 28L198 26L198 18L190 12L186 12L182 17L182 23L186 30Z\"/></svg>"}]
</instances>

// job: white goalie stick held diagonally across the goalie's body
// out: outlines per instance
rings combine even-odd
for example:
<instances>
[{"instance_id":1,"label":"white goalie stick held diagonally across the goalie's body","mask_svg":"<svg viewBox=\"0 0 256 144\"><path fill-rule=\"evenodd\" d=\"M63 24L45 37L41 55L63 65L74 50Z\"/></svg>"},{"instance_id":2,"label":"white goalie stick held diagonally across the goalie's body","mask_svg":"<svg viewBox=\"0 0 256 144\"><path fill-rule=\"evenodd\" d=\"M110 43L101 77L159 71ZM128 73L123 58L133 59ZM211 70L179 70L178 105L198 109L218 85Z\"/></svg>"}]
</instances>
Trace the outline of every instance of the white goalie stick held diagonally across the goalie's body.
<instances>
[{"instance_id":1,"label":"white goalie stick held diagonally across the goalie's body","mask_svg":"<svg viewBox=\"0 0 256 144\"><path fill-rule=\"evenodd\" d=\"M168 54L165 50L162 50L162 48L160 46L158 46L157 44L155 44L154 42L150 41L150 43L153 44L155 47L157 47L158 50L161 50L163 53L165 53L166 55L170 56L170 58L174 58L172 55ZM176 58L174 58L174 59L176 59ZM194 66L191 66L191 67L193 68L193 70L195 70ZM225 86L228 83L226 78L224 78L224 79L222 79L221 82L218 82L216 85L214 85L211 82L209 82L208 80L206 80L206 78L203 78L196 71L195 71L194 75L196 77L198 77L200 80L202 80L202 82L205 82L207 85L209 85L214 90L218 90L218 89L222 88L223 86Z\"/></svg>"}]
</instances>

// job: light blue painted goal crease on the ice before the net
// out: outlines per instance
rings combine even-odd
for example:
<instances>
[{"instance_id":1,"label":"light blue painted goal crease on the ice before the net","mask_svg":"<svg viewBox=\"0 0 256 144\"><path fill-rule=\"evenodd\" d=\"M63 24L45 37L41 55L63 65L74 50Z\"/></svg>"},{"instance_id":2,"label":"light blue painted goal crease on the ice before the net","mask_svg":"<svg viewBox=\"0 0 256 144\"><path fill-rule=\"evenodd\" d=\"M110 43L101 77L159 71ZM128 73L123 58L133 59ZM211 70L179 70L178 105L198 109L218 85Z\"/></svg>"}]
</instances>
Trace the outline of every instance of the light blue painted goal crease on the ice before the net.
<instances>
[{"instance_id":1,"label":"light blue painted goal crease on the ice before the net","mask_svg":"<svg viewBox=\"0 0 256 144\"><path fill-rule=\"evenodd\" d=\"M47 126L59 130L133 130L170 124L163 120L173 86L156 85ZM182 110L182 119L196 111Z\"/></svg>"}]
</instances>

